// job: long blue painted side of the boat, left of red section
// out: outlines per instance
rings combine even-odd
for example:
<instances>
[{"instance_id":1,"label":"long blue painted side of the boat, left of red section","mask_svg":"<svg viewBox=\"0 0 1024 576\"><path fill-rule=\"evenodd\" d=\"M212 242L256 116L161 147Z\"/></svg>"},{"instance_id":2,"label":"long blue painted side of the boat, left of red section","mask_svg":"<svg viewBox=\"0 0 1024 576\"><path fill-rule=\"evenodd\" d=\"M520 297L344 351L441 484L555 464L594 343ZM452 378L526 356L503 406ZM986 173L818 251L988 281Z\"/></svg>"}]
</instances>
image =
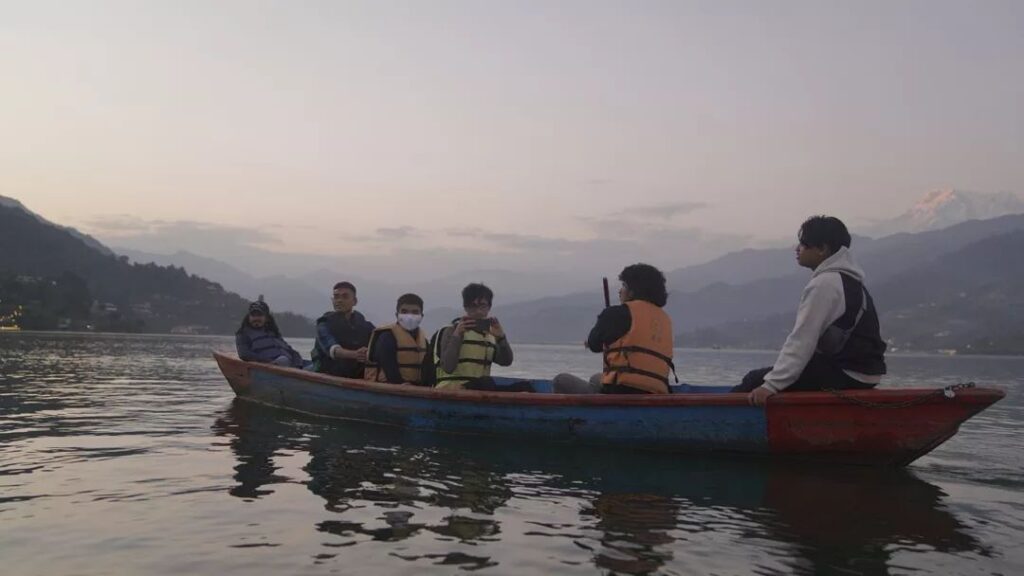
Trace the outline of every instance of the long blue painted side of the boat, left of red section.
<instances>
[{"instance_id":1,"label":"long blue painted side of the boat, left of red section","mask_svg":"<svg viewBox=\"0 0 1024 576\"><path fill-rule=\"evenodd\" d=\"M750 406L571 406L392 396L253 371L248 397L337 418L415 429L628 445L767 451L765 411Z\"/></svg>"}]
</instances>

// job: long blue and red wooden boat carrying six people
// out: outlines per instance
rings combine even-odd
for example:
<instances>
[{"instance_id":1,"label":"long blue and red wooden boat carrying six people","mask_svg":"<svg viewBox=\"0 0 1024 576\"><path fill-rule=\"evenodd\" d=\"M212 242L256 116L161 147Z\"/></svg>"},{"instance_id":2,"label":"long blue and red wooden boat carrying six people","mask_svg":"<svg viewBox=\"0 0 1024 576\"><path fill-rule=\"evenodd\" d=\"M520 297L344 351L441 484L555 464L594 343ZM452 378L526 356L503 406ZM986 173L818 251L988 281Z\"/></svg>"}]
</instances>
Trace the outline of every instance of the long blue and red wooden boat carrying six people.
<instances>
[{"instance_id":1,"label":"long blue and red wooden boat carrying six people","mask_svg":"<svg viewBox=\"0 0 1024 576\"><path fill-rule=\"evenodd\" d=\"M440 390L337 378L214 353L244 400L318 416L420 430L672 452L734 452L904 466L1001 399L954 387L787 393L765 407L727 386L672 395Z\"/></svg>"}]
</instances>

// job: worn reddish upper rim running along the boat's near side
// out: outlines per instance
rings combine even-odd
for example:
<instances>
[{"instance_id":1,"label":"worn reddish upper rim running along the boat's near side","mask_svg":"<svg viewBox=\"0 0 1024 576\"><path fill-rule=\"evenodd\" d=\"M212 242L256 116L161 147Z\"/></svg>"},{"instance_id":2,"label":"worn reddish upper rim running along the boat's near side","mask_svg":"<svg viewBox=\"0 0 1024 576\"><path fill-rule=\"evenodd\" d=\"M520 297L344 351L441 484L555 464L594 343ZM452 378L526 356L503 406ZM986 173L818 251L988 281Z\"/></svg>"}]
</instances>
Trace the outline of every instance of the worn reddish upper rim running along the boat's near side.
<instances>
[{"instance_id":1,"label":"worn reddish upper rim running along the boat's near side","mask_svg":"<svg viewBox=\"0 0 1024 576\"><path fill-rule=\"evenodd\" d=\"M749 396L744 393L687 393L671 395L574 395L574 394L530 394L509 392L481 390L446 390L424 386L400 385L386 382L372 382L353 378L331 376L318 372L310 372L298 368L287 368L247 362L234 356L213 352L213 357L223 372L224 364L241 365L247 369L256 369L282 376L289 376L307 382L326 384L353 392L369 392L395 397L408 397L425 400L451 401L472 404L504 404L517 406L595 406L595 407L650 407L666 408L673 406L751 406ZM225 373L226 375L226 373ZM529 379L529 378L524 378ZM774 395L768 399L771 406L796 405L851 405L858 401L878 405L880 408L893 408L906 402L919 401L921 404L940 404L956 402L958 404L991 405L1006 396L1006 393L992 387L972 387L957 390L954 398L936 394L942 388L893 388L843 390L842 396L830 392L803 392ZM925 399L924 397L934 397Z\"/></svg>"}]
</instances>

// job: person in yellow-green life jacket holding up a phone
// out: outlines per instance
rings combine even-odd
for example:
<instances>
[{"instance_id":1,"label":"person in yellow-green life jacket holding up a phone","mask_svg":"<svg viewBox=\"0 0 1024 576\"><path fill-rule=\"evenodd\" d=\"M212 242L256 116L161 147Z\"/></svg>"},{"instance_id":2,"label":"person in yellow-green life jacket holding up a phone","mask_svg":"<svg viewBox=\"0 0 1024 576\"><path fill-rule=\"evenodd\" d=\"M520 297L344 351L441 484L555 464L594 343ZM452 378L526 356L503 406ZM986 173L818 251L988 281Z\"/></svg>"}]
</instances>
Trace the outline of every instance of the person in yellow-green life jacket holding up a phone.
<instances>
[{"instance_id":1,"label":"person in yellow-green life jacket holding up a phone","mask_svg":"<svg viewBox=\"0 0 1024 576\"><path fill-rule=\"evenodd\" d=\"M462 289L466 315L452 321L430 338L434 361L433 385L442 389L534 392L529 382L499 386L490 378L492 363L512 365L512 346L501 322L490 318L495 293L483 284Z\"/></svg>"}]
</instances>

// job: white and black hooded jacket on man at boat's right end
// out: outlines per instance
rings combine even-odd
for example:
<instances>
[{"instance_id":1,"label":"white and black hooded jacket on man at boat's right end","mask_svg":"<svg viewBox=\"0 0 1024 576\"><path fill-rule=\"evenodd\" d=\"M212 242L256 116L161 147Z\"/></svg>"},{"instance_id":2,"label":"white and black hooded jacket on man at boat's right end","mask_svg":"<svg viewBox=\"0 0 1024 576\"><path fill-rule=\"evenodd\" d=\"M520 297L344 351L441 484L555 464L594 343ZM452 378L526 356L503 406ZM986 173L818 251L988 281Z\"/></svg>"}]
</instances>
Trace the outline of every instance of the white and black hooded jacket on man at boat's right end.
<instances>
[{"instance_id":1,"label":"white and black hooded jacket on man at boat's right end","mask_svg":"<svg viewBox=\"0 0 1024 576\"><path fill-rule=\"evenodd\" d=\"M765 376L764 385L766 387L777 393L793 384L800 377L811 357L818 351L819 340L825 330L847 314L847 290L843 287L844 275L855 280L856 284L863 286L864 271L854 261L853 255L846 247L840 248L839 251L826 258L811 275L811 280L807 283L800 297L797 322L793 331L785 339L771 372ZM865 349L868 349L870 356L878 358L871 358L864 362L862 359L851 358L848 349L844 349L831 358L851 378L864 383L878 384L882 379L882 374L885 373L885 363L882 361L885 342L878 335L878 315L870 301L870 296L866 291L861 293L867 298L867 312L861 321L862 325L858 326L858 330L873 332L873 334L866 334L866 339L873 340L873 342L869 343ZM852 303L855 303L858 308L860 307L859 298L858 301ZM861 337L858 340L863 341L864 339ZM861 368L863 370L861 372L850 369L850 366L871 366L872 368Z\"/></svg>"}]
</instances>

